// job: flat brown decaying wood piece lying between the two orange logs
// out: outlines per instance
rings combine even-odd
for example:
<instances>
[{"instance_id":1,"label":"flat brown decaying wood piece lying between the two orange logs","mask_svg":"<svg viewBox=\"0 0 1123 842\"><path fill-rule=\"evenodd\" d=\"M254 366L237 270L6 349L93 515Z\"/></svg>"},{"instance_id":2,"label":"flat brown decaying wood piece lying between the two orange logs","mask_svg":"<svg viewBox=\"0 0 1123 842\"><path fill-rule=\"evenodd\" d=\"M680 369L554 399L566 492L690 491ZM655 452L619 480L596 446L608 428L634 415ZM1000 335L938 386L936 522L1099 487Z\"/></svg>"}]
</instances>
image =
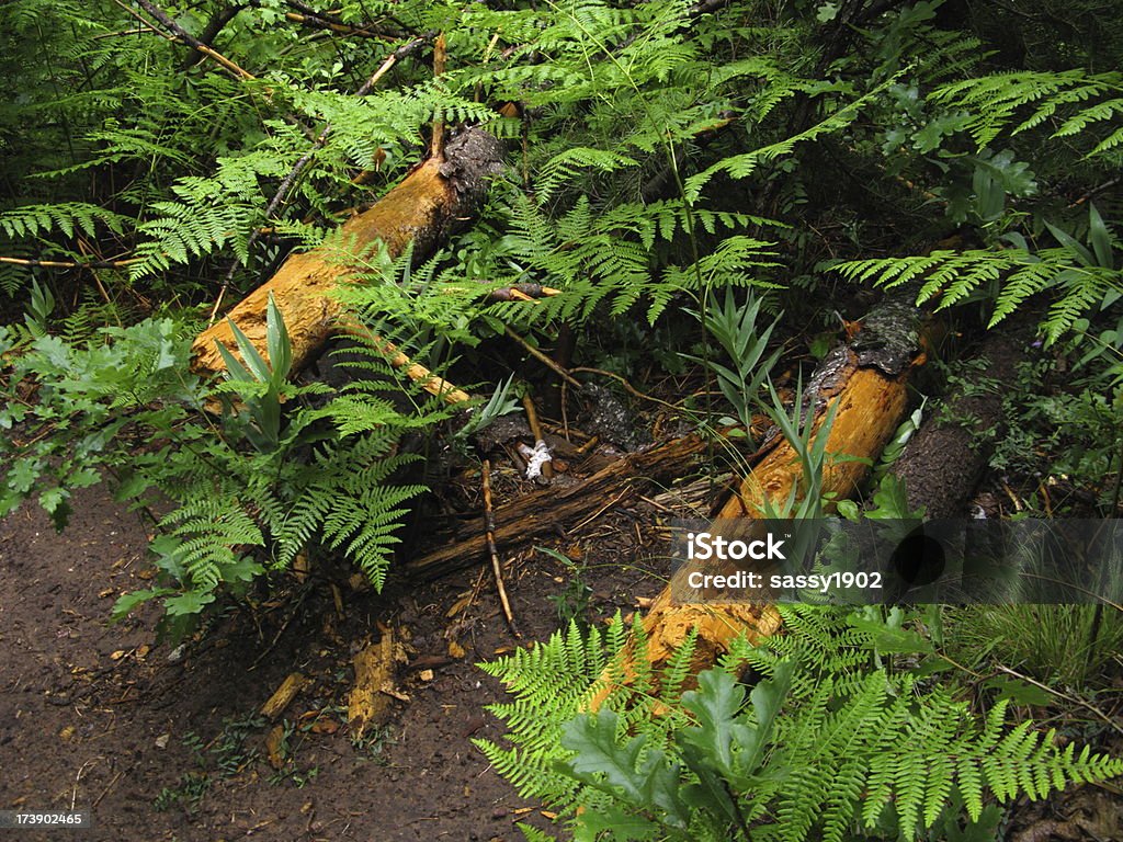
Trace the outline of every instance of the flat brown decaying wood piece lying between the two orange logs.
<instances>
[{"instance_id":1,"label":"flat brown decaying wood piece lying between the two orange logs","mask_svg":"<svg viewBox=\"0 0 1123 842\"><path fill-rule=\"evenodd\" d=\"M685 436L639 454L629 454L591 477L567 487L555 484L494 511L494 538L509 546L536 536L572 527L609 504L621 492L639 493L659 478L688 470L692 457L706 447L704 439ZM405 562L404 571L413 578L435 578L487 557L487 540L480 534L478 518L441 540L438 549Z\"/></svg>"}]
</instances>

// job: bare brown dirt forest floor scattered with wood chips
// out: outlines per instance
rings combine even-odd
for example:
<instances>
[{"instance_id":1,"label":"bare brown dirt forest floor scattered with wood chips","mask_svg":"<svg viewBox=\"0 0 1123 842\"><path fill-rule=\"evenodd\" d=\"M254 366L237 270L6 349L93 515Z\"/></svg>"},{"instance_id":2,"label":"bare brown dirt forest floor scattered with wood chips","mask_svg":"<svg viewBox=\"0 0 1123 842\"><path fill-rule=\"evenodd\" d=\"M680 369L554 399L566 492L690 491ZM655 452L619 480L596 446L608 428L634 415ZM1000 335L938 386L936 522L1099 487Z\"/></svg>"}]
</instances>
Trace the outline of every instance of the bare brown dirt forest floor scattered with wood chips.
<instances>
[{"instance_id":1,"label":"bare brown dirt forest floor scattered with wood chips","mask_svg":"<svg viewBox=\"0 0 1123 842\"><path fill-rule=\"evenodd\" d=\"M289 598L232 612L170 659L154 612L107 622L113 600L153 575L138 515L98 486L58 534L25 505L0 522L0 808L89 809L94 829L75 833L97 840L521 839L515 822L535 822L538 808L472 743L500 736L484 706L504 696L475 663L547 638L559 594L599 620L658 593L666 570L643 569L636 516L603 515L579 549L551 540L586 553L576 583L532 548L505 559L521 641L481 558L381 596L354 591L346 570L313 569ZM358 739L347 722L351 659L387 629L407 659L401 698ZM271 750L274 723L259 710L295 670L309 683ZM37 838L60 835L20 834Z\"/></svg>"}]
</instances>

